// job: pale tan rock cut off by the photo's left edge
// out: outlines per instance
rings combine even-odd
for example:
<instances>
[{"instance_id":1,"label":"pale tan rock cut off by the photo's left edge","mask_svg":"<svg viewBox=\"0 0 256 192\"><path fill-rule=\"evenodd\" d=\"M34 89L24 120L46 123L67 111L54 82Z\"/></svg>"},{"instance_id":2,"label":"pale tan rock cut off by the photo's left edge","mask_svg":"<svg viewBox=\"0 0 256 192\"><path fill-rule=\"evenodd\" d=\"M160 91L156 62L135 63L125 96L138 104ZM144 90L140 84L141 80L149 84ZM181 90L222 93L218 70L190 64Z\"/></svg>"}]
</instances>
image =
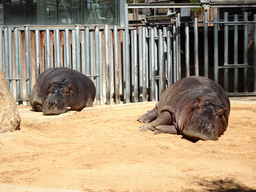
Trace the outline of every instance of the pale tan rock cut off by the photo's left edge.
<instances>
[{"instance_id":1,"label":"pale tan rock cut off by the photo's left edge","mask_svg":"<svg viewBox=\"0 0 256 192\"><path fill-rule=\"evenodd\" d=\"M20 115L8 83L0 70L0 133L20 129Z\"/></svg>"}]
</instances>

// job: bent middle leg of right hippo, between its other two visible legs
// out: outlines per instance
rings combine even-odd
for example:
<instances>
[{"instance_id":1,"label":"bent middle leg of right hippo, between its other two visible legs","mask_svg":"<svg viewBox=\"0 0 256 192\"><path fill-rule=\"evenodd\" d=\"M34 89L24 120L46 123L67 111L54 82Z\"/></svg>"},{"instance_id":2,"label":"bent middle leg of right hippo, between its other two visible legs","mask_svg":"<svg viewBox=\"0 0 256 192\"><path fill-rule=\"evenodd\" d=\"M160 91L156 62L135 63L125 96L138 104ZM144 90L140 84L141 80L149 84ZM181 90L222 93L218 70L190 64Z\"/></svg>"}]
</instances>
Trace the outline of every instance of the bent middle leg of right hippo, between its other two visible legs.
<instances>
[{"instance_id":1,"label":"bent middle leg of right hippo, between its other two visible legs","mask_svg":"<svg viewBox=\"0 0 256 192\"><path fill-rule=\"evenodd\" d=\"M157 119L150 122L149 124L143 125L140 127L140 130L142 132L145 132L147 130L155 131L156 127L159 125L171 125L173 122L173 118L170 112L163 111Z\"/></svg>"}]
</instances>

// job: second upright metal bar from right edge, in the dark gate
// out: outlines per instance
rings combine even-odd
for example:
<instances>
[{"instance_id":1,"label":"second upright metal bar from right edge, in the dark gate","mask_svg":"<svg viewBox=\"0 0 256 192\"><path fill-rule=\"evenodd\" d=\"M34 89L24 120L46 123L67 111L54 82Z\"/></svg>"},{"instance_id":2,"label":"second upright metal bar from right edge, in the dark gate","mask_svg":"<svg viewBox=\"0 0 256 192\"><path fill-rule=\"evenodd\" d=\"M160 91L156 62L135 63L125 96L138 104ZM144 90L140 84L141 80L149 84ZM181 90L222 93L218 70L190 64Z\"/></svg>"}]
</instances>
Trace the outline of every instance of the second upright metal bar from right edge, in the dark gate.
<instances>
[{"instance_id":1,"label":"second upright metal bar from right edge, in the dark gate","mask_svg":"<svg viewBox=\"0 0 256 192\"><path fill-rule=\"evenodd\" d=\"M248 13L244 12L244 21L248 21ZM248 64L248 25L244 26L244 64ZM244 91L248 92L247 68L244 68Z\"/></svg>"}]
</instances>

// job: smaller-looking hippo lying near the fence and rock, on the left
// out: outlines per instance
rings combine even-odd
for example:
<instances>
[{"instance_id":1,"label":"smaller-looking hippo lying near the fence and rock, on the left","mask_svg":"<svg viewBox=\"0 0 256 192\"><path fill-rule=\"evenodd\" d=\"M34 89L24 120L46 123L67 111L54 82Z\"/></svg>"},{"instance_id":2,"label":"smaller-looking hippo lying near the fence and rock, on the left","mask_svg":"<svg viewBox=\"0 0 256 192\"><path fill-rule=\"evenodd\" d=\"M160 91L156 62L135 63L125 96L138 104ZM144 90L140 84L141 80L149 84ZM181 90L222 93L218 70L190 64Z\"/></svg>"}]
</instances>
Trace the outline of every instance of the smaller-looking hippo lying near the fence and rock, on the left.
<instances>
[{"instance_id":1,"label":"smaller-looking hippo lying near the fence and rock, on the left","mask_svg":"<svg viewBox=\"0 0 256 192\"><path fill-rule=\"evenodd\" d=\"M65 67L42 72L34 85L30 104L34 111L58 115L93 106L96 88L87 76Z\"/></svg>"}]
</instances>

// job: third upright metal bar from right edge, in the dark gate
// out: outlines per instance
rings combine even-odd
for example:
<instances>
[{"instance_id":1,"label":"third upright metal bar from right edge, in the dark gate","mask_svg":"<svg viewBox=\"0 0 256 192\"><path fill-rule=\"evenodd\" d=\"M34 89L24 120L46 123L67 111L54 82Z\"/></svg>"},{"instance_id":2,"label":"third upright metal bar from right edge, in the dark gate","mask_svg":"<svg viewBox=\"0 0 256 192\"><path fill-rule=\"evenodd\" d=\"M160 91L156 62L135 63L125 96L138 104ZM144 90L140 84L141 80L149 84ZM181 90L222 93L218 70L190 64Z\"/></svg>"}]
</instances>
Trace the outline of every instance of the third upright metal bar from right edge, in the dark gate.
<instances>
[{"instance_id":1,"label":"third upright metal bar from right edge, in the dark gate","mask_svg":"<svg viewBox=\"0 0 256 192\"><path fill-rule=\"evenodd\" d=\"M238 15L234 15L234 21L238 21ZM234 27L234 64L238 64L238 26ZM234 92L238 92L238 69L234 71Z\"/></svg>"}]
</instances>

